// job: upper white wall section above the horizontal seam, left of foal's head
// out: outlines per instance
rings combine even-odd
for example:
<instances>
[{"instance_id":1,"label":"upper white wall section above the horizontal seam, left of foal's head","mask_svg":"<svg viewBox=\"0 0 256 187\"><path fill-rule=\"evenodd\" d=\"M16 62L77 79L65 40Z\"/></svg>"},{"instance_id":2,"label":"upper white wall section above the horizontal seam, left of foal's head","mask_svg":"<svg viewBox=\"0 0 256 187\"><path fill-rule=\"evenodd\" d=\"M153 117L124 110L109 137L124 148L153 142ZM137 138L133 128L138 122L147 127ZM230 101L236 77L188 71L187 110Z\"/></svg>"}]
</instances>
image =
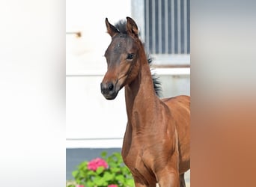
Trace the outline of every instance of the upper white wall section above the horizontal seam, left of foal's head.
<instances>
[{"instance_id":1,"label":"upper white wall section above the horizontal seam, left of foal's head","mask_svg":"<svg viewBox=\"0 0 256 187\"><path fill-rule=\"evenodd\" d=\"M104 52L111 37L106 34L106 17L114 24L131 14L130 0L67 0L66 31L81 31L82 37L66 37L67 75L106 70Z\"/></svg>"}]
</instances>

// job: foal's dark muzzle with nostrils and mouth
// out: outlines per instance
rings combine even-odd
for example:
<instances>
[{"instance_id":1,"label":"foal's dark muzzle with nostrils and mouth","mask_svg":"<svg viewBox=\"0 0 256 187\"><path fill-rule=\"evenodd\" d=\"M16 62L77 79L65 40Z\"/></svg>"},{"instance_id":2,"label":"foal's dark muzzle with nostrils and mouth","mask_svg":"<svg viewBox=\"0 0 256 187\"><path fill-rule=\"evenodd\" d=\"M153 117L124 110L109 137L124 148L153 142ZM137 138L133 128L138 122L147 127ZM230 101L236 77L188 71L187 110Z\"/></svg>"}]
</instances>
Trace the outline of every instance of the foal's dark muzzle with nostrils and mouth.
<instances>
[{"instance_id":1,"label":"foal's dark muzzle with nostrils and mouth","mask_svg":"<svg viewBox=\"0 0 256 187\"><path fill-rule=\"evenodd\" d=\"M100 89L103 96L108 100L115 99L119 91L119 89L116 88L116 85L112 82L100 83Z\"/></svg>"}]
</instances>

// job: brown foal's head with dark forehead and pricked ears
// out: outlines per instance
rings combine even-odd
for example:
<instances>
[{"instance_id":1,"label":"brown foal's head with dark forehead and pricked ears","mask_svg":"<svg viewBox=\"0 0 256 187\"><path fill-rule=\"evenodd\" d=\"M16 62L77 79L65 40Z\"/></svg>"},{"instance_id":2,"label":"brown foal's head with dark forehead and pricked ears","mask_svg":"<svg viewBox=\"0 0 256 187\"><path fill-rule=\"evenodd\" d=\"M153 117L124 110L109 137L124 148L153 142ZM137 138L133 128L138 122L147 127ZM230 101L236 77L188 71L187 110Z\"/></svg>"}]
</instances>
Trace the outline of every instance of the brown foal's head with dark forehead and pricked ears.
<instances>
[{"instance_id":1,"label":"brown foal's head with dark forehead and pricked ears","mask_svg":"<svg viewBox=\"0 0 256 187\"><path fill-rule=\"evenodd\" d=\"M125 28L124 28L125 27ZM106 28L112 41L106 49L107 72L100 84L101 93L106 99L115 99L118 91L129 85L138 75L138 61L141 42L138 39L138 27L133 19L127 17L123 28L115 27L106 18Z\"/></svg>"}]
</instances>

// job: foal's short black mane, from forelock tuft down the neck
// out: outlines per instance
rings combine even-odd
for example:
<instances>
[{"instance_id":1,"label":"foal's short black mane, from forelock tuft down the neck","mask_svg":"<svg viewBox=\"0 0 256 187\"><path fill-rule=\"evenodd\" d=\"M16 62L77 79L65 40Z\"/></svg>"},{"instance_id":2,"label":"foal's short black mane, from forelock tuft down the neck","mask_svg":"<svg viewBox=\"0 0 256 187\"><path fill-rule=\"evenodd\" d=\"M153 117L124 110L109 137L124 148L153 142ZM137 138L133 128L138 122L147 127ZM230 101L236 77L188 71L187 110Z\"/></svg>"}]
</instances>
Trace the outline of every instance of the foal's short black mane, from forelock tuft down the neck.
<instances>
[{"instance_id":1,"label":"foal's short black mane, from forelock tuft down the neck","mask_svg":"<svg viewBox=\"0 0 256 187\"><path fill-rule=\"evenodd\" d=\"M121 33L121 34L128 34L127 32L127 20L125 19L121 19L120 21L118 21L116 24L115 24L115 28L118 29L118 31ZM140 36L140 33L138 33L138 36ZM148 55L147 55L148 56ZM147 58L147 63L149 65L152 64L152 58ZM150 68L150 72L151 72L151 68ZM159 81L159 76L156 75L156 73L153 73L151 72L151 77L152 77L152 80L153 80L153 88L156 92L156 95L158 97L161 97L162 96L162 87L161 87L161 82Z\"/></svg>"}]
</instances>

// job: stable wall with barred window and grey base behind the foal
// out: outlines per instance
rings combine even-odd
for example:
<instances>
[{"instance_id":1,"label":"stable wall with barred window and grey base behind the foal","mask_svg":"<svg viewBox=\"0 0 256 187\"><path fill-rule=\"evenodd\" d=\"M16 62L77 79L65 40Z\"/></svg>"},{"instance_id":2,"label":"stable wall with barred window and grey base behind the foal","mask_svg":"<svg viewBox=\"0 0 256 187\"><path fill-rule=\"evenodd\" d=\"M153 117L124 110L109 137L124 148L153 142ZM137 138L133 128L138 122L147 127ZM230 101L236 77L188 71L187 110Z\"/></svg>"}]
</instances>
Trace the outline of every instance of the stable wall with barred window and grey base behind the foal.
<instances>
[{"instance_id":1,"label":"stable wall with barred window and grey base behind the foal","mask_svg":"<svg viewBox=\"0 0 256 187\"><path fill-rule=\"evenodd\" d=\"M103 55L111 41L106 17L112 25L127 16L135 20L162 82L162 97L190 95L189 7L189 0L66 1L67 180L73 179L80 162L122 147L127 125L124 89L111 101L100 93L106 73Z\"/></svg>"}]
</instances>

